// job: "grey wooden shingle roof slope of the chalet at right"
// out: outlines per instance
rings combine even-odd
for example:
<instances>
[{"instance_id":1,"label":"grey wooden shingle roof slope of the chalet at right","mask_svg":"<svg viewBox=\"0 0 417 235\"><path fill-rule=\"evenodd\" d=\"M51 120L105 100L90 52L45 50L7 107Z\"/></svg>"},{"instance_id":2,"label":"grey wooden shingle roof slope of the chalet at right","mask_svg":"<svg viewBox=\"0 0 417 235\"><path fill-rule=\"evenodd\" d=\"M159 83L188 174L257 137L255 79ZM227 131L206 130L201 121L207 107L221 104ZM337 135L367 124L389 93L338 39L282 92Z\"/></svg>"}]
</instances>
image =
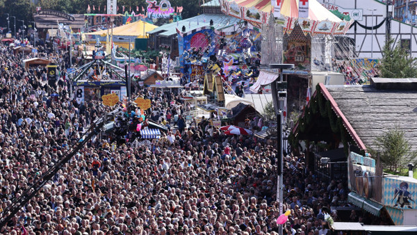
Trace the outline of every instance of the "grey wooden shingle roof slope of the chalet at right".
<instances>
[{"instance_id":1,"label":"grey wooden shingle roof slope of the chalet at right","mask_svg":"<svg viewBox=\"0 0 417 235\"><path fill-rule=\"evenodd\" d=\"M378 89L374 83L374 86L325 86L325 89L367 147L374 146L384 131L399 127L411 149L417 150L417 90L404 90L404 84L396 87L393 84L391 88Z\"/></svg>"}]
</instances>

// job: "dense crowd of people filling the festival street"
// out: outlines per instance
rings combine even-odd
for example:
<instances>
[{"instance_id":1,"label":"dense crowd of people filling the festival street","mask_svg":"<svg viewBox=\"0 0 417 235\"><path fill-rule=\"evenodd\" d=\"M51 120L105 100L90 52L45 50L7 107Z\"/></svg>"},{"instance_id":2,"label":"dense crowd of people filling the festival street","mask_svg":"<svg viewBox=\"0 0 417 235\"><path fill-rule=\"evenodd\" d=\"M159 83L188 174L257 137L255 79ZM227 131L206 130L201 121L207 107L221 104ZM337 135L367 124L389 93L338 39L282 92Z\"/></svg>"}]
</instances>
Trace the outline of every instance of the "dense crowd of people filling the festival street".
<instances>
[{"instance_id":1,"label":"dense crowd of people filling the festival street","mask_svg":"<svg viewBox=\"0 0 417 235\"><path fill-rule=\"evenodd\" d=\"M58 83L49 86L43 67L26 70L22 54L3 44L0 50L3 211L106 108L78 104L67 92L65 54L41 49L40 57L60 65ZM95 136L1 234L277 234L275 147L254 136L225 136L206 119L186 122L190 107L180 95L146 88L136 95L152 100L147 116L169 131L122 145ZM284 211L291 210L284 234L327 234L327 211L336 221L329 208L347 204L345 182L318 178L303 154L288 154L284 163Z\"/></svg>"}]
</instances>

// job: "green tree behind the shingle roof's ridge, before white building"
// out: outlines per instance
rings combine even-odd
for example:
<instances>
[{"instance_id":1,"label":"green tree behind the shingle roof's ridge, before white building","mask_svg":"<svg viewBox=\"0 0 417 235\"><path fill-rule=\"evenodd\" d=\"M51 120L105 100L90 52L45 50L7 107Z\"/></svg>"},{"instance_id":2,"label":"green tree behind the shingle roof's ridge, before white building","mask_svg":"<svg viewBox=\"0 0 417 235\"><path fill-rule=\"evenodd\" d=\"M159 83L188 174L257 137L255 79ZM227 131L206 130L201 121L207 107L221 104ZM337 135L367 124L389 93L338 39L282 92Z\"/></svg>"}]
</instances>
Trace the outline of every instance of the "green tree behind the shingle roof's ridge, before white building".
<instances>
[{"instance_id":1,"label":"green tree behind the shingle roof's ridge, before white building","mask_svg":"<svg viewBox=\"0 0 417 235\"><path fill-rule=\"evenodd\" d=\"M384 78L417 77L417 58L413 58L401 44L393 48L394 40L386 42L381 60L380 75Z\"/></svg>"}]
</instances>

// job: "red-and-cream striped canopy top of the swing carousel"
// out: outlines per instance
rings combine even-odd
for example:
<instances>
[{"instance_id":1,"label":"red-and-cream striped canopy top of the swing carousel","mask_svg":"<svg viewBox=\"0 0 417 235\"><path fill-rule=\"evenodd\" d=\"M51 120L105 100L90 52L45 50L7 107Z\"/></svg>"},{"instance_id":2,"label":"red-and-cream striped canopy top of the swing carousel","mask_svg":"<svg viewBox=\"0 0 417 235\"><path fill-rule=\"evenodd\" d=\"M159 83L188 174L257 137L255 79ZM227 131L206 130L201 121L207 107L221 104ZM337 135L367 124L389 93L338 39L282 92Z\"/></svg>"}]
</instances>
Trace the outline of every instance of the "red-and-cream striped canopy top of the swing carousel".
<instances>
[{"instance_id":1,"label":"red-and-cream striped canopy top of the swing carousel","mask_svg":"<svg viewBox=\"0 0 417 235\"><path fill-rule=\"evenodd\" d=\"M220 0L222 12L238 17L257 26L268 22L271 16L271 0ZM353 21L346 22L331 13L317 0L309 0L309 17L298 17L300 0L281 0L284 26L291 31L298 22L304 33L345 34Z\"/></svg>"}]
</instances>

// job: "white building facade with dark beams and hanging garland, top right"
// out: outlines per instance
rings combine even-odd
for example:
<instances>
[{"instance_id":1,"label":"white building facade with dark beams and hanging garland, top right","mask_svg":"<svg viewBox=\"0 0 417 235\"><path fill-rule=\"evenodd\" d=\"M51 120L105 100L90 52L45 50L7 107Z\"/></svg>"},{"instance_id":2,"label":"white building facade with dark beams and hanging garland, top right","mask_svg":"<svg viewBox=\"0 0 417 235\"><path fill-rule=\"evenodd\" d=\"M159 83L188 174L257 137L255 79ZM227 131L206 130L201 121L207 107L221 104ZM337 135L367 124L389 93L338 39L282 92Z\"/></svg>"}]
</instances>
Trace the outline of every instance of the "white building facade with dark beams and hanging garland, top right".
<instances>
[{"instance_id":1,"label":"white building facade with dark beams and hanging garland, top right","mask_svg":"<svg viewBox=\"0 0 417 235\"><path fill-rule=\"evenodd\" d=\"M338 10L356 21L346 36L352 38L350 50L358 58L382 58L387 32L395 45L399 43L407 51L411 51L411 56L417 56L417 27L414 20L417 1L391 0L389 6L386 5L386 0L318 1L327 9ZM391 24L389 27L386 20L387 11Z\"/></svg>"}]
</instances>

